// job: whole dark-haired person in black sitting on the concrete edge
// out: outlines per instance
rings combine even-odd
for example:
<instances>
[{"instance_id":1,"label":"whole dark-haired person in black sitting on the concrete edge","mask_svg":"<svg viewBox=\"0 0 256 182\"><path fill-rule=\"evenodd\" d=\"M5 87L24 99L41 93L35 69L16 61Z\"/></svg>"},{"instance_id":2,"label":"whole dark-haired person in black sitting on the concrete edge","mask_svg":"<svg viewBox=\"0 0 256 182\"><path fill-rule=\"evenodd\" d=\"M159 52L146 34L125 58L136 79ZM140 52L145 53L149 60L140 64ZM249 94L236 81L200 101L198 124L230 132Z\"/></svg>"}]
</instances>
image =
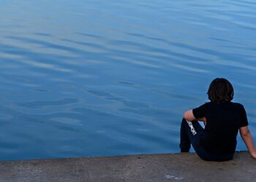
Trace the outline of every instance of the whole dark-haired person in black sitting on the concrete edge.
<instances>
[{"instance_id":1,"label":"whole dark-haired person in black sitting on the concrete edge","mask_svg":"<svg viewBox=\"0 0 256 182\"><path fill-rule=\"evenodd\" d=\"M214 79L207 94L211 102L184 113L180 131L181 152L189 152L192 145L201 159L233 159L239 130L249 154L256 159L244 106L231 102L234 95L232 84L227 79ZM205 124L205 128L199 124L200 121Z\"/></svg>"}]
</instances>

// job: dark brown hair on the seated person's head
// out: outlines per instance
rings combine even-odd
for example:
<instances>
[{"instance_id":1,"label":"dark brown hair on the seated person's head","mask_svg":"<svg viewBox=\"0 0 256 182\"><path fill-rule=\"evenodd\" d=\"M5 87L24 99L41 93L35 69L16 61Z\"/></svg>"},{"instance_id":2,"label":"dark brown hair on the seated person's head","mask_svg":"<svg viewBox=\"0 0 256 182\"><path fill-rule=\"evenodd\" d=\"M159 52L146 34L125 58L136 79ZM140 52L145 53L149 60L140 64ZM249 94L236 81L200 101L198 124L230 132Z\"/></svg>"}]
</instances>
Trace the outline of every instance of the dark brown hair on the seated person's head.
<instances>
[{"instance_id":1,"label":"dark brown hair on the seated person's head","mask_svg":"<svg viewBox=\"0 0 256 182\"><path fill-rule=\"evenodd\" d=\"M225 103L233 99L234 89L227 79L214 79L208 88L208 99L214 103Z\"/></svg>"}]
</instances>

